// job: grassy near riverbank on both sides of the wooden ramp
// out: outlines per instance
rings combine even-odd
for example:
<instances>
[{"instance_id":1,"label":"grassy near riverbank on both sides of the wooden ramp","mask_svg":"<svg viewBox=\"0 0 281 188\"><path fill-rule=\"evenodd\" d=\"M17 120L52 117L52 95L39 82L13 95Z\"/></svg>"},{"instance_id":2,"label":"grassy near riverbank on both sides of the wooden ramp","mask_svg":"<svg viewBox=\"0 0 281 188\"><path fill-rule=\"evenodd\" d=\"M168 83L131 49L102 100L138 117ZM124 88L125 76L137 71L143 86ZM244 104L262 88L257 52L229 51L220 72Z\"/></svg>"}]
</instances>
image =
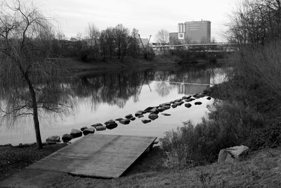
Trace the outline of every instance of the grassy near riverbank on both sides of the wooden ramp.
<instances>
[{"instance_id":1,"label":"grassy near riverbank on both sides of the wooden ramp","mask_svg":"<svg viewBox=\"0 0 281 188\"><path fill-rule=\"evenodd\" d=\"M1 180L63 146L65 145L44 146L42 150L32 147L1 147L1 164L4 158L12 158L8 166L1 168ZM247 158L234 164L213 163L194 168L167 168L163 150L154 147L118 179L60 175L54 182L50 182L50 187L280 187L280 156L281 148L278 147L250 152Z\"/></svg>"}]
</instances>

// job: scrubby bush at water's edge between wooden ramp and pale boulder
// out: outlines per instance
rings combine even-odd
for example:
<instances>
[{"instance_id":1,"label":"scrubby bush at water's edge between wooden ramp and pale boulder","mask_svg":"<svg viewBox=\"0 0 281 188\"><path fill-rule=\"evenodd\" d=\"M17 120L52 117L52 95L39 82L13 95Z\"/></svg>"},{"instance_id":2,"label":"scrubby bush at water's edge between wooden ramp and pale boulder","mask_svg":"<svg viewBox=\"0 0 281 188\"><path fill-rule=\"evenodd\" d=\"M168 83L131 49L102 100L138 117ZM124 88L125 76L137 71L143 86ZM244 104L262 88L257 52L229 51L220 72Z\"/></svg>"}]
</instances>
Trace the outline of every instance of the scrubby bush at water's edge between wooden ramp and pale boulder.
<instances>
[{"instance_id":1,"label":"scrubby bush at water's edge between wooden ramp and pale boulder","mask_svg":"<svg viewBox=\"0 0 281 188\"><path fill-rule=\"evenodd\" d=\"M249 106L219 102L209 119L193 125L190 121L160 139L170 165L211 163L221 149L243 144L250 133L263 127L263 117Z\"/></svg>"}]
</instances>

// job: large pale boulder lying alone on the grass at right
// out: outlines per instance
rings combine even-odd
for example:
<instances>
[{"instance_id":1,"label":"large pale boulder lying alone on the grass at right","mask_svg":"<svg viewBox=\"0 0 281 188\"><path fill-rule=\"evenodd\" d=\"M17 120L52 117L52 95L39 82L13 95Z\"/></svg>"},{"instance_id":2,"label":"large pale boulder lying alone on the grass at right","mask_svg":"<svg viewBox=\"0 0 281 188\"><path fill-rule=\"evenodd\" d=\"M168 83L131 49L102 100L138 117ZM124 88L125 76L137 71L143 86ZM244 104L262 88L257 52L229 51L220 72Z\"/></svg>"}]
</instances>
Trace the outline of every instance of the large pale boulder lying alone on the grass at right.
<instances>
[{"instance_id":1,"label":"large pale boulder lying alone on the grass at right","mask_svg":"<svg viewBox=\"0 0 281 188\"><path fill-rule=\"evenodd\" d=\"M247 156L249 147L234 146L227 149L221 149L218 153L218 163L234 163L239 161L242 156Z\"/></svg>"}]
</instances>

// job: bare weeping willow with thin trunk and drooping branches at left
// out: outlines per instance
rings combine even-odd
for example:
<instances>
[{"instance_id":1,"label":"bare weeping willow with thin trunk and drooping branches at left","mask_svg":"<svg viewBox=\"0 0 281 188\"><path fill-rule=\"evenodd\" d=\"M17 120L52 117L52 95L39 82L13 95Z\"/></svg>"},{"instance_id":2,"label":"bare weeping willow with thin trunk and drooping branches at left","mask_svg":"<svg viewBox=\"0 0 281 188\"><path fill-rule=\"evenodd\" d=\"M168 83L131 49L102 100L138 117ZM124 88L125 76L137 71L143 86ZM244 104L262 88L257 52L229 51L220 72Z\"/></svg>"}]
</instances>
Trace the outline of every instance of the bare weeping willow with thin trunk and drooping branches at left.
<instances>
[{"instance_id":1,"label":"bare weeping willow with thin trunk and drooping branches at left","mask_svg":"<svg viewBox=\"0 0 281 188\"><path fill-rule=\"evenodd\" d=\"M0 6L1 123L32 115L41 149L39 115L72 107L65 73L48 58L51 23L32 1L1 1Z\"/></svg>"}]
</instances>

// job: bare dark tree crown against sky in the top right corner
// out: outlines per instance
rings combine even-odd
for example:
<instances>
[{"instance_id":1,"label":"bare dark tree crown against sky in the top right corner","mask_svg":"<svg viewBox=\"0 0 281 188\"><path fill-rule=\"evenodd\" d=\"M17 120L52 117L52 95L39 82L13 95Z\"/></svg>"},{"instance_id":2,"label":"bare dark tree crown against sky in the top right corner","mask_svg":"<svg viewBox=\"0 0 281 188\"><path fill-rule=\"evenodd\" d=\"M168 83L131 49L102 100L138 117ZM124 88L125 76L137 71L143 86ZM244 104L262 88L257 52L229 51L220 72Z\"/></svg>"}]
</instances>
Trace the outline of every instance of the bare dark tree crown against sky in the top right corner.
<instances>
[{"instance_id":1,"label":"bare dark tree crown against sky in the top right corner","mask_svg":"<svg viewBox=\"0 0 281 188\"><path fill-rule=\"evenodd\" d=\"M228 39L239 44L264 44L281 38L281 1L245 0L230 15Z\"/></svg>"}]
</instances>

